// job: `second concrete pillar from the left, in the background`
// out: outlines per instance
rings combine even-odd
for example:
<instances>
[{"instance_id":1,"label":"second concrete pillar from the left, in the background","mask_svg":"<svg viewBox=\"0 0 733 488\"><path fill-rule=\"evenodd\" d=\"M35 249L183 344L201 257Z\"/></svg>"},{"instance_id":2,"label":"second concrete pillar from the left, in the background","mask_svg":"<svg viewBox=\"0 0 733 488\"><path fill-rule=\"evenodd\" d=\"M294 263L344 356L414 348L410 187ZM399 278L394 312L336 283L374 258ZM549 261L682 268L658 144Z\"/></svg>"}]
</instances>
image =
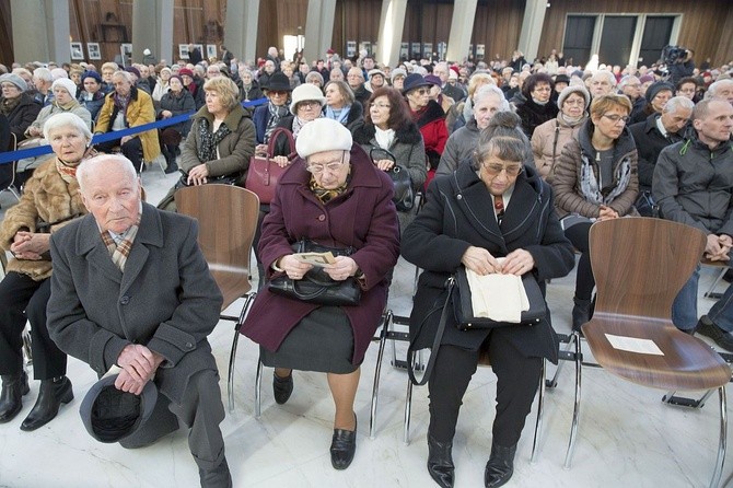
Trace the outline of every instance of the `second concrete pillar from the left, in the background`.
<instances>
[{"instance_id":1,"label":"second concrete pillar from the left, in the background","mask_svg":"<svg viewBox=\"0 0 733 488\"><path fill-rule=\"evenodd\" d=\"M144 49L150 49L155 60L168 65L178 56L173 50L174 0L133 0L132 3L132 60L142 62Z\"/></svg>"}]
</instances>

